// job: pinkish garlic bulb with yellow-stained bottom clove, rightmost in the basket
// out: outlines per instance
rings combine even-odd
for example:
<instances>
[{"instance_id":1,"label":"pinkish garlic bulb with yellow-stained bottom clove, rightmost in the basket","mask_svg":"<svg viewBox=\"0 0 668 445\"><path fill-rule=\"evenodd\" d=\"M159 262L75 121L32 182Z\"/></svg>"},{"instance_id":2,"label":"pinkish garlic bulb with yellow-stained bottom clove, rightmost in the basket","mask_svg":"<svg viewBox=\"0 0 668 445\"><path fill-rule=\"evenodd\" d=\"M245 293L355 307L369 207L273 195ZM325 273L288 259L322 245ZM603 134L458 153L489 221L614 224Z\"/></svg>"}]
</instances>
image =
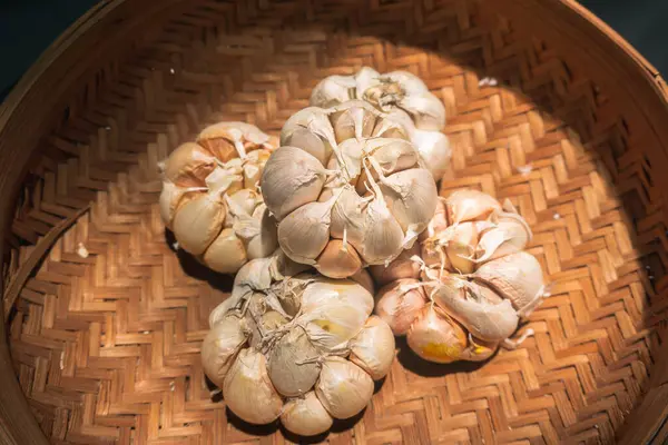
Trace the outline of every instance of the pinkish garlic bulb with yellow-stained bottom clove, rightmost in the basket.
<instances>
[{"instance_id":1,"label":"pinkish garlic bulb with yellow-stained bottom clove, rightmost in the basket","mask_svg":"<svg viewBox=\"0 0 668 445\"><path fill-rule=\"evenodd\" d=\"M371 268L383 286L375 313L430 362L480 362L517 346L509 337L546 294L541 266L524 251L531 236L510 201L455 191L412 250Z\"/></svg>"}]
</instances>

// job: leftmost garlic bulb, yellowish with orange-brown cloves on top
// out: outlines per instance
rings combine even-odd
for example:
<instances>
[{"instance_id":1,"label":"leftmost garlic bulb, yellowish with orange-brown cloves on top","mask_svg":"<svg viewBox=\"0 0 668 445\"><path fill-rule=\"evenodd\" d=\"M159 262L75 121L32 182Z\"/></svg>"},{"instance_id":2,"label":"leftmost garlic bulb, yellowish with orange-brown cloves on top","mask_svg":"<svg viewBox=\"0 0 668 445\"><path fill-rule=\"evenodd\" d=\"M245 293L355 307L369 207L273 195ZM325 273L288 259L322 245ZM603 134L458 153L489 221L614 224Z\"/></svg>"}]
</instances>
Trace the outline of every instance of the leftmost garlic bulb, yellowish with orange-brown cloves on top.
<instances>
[{"instance_id":1,"label":"leftmost garlic bulb, yellowish with orange-brown cloves on top","mask_svg":"<svg viewBox=\"0 0 668 445\"><path fill-rule=\"evenodd\" d=\"M160 215L180 248L224 274L276 249L276 221L258 189L275 147L253 125L219 122L159 164Z\"/></svg>"}]
</instances>

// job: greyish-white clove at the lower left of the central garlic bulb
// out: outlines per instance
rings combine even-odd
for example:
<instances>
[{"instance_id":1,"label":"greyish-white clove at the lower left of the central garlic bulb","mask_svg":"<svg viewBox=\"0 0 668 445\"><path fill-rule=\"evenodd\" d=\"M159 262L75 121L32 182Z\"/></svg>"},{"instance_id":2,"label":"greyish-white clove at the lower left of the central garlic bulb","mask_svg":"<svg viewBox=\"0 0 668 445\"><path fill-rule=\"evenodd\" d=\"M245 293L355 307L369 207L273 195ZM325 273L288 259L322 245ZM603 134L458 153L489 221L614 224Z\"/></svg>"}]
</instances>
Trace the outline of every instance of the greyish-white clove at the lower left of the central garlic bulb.
<instances>
[{"instance_id":1,"label":"greyish-white clove at the lower left of the central garlic bulb","mask_svg":"<svg viewBox=\"0 0 668 445\"><path fill-rule=\"evenodd\" d=\"M308 202L278 224L278 244L292 260L315 265L330 241L330 202Z\"/></svg>"}]
</instances>

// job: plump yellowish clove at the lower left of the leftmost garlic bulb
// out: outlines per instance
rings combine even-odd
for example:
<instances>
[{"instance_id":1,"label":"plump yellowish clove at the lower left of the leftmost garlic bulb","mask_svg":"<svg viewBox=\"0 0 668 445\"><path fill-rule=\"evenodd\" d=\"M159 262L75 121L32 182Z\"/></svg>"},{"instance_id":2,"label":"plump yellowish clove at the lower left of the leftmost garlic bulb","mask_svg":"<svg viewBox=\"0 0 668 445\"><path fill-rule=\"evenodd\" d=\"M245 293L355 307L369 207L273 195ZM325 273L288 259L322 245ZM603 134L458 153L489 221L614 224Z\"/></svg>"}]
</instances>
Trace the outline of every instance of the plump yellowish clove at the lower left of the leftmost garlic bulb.
<instances>
[{"instance_id":1,"label":"plump yellowish clove at the lower left of the leftmost garlic bulb","mask_svg":"<svg viewBox=\"0 0 668 445\"><path fill-rule=\"evenodd\" d=\"M174 217L174 236L191 255L202 255L216 239L226 216L219 190L200 195L184 204Z\"/></svg>"}]
</instances>

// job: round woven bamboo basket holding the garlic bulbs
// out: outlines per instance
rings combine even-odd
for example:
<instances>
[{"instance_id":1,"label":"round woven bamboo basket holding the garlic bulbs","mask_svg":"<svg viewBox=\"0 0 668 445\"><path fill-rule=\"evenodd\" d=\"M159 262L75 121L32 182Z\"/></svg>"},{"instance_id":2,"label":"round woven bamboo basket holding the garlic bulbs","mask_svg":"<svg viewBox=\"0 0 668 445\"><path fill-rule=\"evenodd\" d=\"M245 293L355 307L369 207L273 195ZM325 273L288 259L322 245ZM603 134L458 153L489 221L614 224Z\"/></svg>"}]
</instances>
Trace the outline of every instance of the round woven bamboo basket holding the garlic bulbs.
<instances>
[{"instance_id":1,"label":"round woven bamboo basket holding the garlic bulbs","mask_svg":"<svg viewBox=\"0 0 668 445\"><path fill-rule=\"evenodd\" d=\"M0 108L8 444L293 443L204 384L230 280L170 248L156 162L217 120L276 135L362 66L446 106L441 192L510 198L552 296L482 365L397 343L336 444L661 443L668 437L668 107L628 43L570 0L100 2ZM82 250L85 249L85 250ZM664 350L662 350L664 349Z\"/></svg>"}]
</instances>

